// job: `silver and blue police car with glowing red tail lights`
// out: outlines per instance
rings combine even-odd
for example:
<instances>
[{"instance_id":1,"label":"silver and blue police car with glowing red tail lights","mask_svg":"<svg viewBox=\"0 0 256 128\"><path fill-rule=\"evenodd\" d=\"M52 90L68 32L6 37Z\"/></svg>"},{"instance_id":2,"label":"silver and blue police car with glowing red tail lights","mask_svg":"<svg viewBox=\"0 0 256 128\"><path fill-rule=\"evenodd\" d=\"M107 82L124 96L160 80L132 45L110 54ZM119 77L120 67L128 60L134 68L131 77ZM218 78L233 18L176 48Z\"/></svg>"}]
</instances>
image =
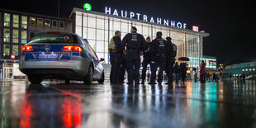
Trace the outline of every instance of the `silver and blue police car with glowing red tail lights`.
<instances>
[{"instance_id":1,"label":"silver and blue police car with glowing red tail lights","mask_svg":"<svg viewBox=\"0 0 256 128\"><path fill-rule=\"evenodd\" d=\"M69 32L42 31L21 47L19 69L31 83L41 83L43 79L103 83L102 61L88 40Z\"/></svg>"}]
</instances>

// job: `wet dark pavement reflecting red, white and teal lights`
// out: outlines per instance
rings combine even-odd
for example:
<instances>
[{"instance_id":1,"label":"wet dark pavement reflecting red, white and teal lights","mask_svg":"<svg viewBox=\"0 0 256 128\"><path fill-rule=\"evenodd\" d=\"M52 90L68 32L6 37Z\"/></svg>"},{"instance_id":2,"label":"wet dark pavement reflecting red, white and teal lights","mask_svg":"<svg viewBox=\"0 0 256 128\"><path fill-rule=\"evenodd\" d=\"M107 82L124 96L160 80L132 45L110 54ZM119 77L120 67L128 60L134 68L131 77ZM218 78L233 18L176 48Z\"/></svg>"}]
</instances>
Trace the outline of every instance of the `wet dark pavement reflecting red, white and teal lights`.
<instances>
[{"instance_id":1,"label":"wet dark pavement reflecting red, white and teal lights","mask_svg":"<svg viewBox=\"0 0 256 128\"><path fill-rule=\"evenodd\" d=\"M256 127L256 82L151 86L0 81L1 127Z\"/></svg>"}]
</instances>

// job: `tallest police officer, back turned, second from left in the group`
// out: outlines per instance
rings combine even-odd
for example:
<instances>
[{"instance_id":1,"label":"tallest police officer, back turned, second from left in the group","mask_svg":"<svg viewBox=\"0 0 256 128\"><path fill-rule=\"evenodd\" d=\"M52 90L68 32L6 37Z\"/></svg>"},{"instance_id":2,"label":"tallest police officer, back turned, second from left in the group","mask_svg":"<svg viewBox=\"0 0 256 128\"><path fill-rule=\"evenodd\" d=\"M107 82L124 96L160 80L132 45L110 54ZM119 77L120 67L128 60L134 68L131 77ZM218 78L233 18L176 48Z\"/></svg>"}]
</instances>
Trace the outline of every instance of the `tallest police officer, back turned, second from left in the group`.
<instances>
[{"instance_id":1,"label":"tallest police officer, back turned, second from left in the group","mask_svg":"<svg viewBox=\"0 0 256 128\"><path fill-rule=\"evenodd\" d=\"M126 50L125 50L126 47ZM135 26L131 27L130 33L122 40L122 49L126 54L126 64L128 68L128 84L140 84L140 55L145 51L146 41L143 36L137 33Z\"/></svg>"}]
</instances>

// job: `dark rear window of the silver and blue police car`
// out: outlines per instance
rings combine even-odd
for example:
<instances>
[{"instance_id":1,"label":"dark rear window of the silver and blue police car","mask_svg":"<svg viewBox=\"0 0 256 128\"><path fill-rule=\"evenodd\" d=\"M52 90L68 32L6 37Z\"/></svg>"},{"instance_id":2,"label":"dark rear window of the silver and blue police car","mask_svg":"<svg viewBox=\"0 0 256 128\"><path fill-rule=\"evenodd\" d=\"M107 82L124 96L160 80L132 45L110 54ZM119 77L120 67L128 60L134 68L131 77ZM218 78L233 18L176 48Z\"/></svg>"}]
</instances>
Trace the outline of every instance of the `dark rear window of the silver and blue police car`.
<instances>
[{"instance_id":1,"label":"dark rear window of the silver and blue police car","mask_svg":"<svg viewBox=\"0 0 256 128\"><path fill-rule=\"evenodd\" d=\"M78 44L78 40L76 36L73 35L65 35L65 34L36 34L33 38L31 38L30 44L36 44L36 43L70 43L70 44Z\"/></svg>"}]
</instances>

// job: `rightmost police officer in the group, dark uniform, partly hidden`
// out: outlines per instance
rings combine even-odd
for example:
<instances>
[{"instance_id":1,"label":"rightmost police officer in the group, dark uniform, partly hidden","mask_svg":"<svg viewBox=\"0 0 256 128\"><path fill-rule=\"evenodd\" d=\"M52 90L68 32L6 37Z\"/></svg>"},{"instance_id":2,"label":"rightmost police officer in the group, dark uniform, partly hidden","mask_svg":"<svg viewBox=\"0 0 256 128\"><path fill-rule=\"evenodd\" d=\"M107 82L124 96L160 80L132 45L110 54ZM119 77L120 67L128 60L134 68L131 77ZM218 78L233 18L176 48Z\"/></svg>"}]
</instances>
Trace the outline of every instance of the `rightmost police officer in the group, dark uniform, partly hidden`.
<instances>
[{"instance_id":1,"label":"rightmost police officer in the group, dark uniform, partly hidden","mask_svg":"<svg viewBox=\"0 0 256 128\"><path fill-rule=\"evenodd\" d=\"M165 84L173 83L173 64L177 55L177 45L173 44L171 37L166 37L168 53L166 54L165 73L168 77L168 82Z\"/></svg>"}]
</instances>

